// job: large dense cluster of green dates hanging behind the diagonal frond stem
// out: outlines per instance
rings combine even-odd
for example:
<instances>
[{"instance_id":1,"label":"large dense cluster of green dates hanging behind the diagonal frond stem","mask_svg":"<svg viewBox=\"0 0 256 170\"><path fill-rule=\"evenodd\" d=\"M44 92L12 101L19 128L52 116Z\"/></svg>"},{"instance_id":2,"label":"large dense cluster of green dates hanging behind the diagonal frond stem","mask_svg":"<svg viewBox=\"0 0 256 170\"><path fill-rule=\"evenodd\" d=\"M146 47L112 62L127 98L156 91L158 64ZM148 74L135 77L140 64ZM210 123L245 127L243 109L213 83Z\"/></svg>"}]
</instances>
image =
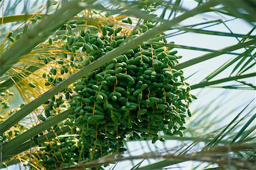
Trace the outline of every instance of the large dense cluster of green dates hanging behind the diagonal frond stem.
<instances>
[{"instance_id":1,"label":"large dense cluster of green dates hanging behind the diagonal frond stem","mask_svg":"<svg viewBox=\"0 0 256 170\"><path fill-rule=\"evenodd\" d=\"M101 36L87 29L80 36L85 42L75 42L89 54L84 65L117 48L127 38L115 34L118 28L101 28ZM179 58L176 53L170 52L162 41L158 45L142 44L73 84L76 95L72 96L75 114L71 123L82 129L80 137L92 158L125 151L123 141L127 135L130 139L152 138L153 143L164 140L159 131L183 135L185 112L193 96L183 72L172 69Z\"/></svg>"}]
</instances>

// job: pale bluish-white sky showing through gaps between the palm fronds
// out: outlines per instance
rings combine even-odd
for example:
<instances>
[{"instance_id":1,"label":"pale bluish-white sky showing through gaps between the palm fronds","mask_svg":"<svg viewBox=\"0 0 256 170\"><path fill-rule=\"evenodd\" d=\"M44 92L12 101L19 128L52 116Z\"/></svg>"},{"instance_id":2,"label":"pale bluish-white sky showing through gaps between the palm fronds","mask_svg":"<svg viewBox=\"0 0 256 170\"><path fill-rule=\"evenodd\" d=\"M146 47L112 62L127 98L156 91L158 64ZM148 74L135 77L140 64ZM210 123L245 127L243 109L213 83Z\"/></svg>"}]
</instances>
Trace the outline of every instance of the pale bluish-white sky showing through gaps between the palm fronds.
<instances>
[{"instance_id":1,"label":"pale bluish-white sky showing through gaps between the palm fronds","mask_svg":"<svg viewBox=\"0 0 256 170\"><path fill-rule=\"evenodd\" d=\"M191 9L191 8L195 7L196 4L193 1L187 0L187 1L183 2L183 5L184 5L184 7ZM20 7L20 9L21 8L22 7ZM204 18L208 18L208 19L210 18L211 20L215 20L215 19L229 20L229 19L231 19L230 17L225 16L225 15L221 16L218 14L213 14L213 12L210 12L210 13L208 12L207 14L200 15L197 18L189 18L180 24L188 25L188 24L200 23L204 20ZM250 24L248 24L245 21L240 20L240 19L226 22L226 25L234 33L245 34L252 29L252 26ZM224 24L218 24L213 27L206 28L206 30L229 32L228 28L226 28L226 26ZM253 35L255 35L255 32L253 33ZM235 37L212 36L212 35L203 35L203 34L198 34L198 33L185 33L183 35L171 37L170 39L168 39L168 41L174 41L175 44L177 44L177 45L196 46L196 47L213 49L213 50L218 50L218 49L224 48L226 46L230 46L230 45L234 45L234 44L238 43L238 41ZM179 60L179 62L184 62L184 61L187 61L188 59L199 57L203 54L208 53L208 52L199 52L197 50L187 50L187 49L174 49L174 50L178 51L177 55L183 56L183 58L181 58ZM237 52L241 52L241 50L238 50ZM187 82L189 82L190 84L195 84L195 83L200 82L201 80L203 80L205 78L205 76L207 76L208 74L212 73L212 71L217 69L220 66L220 63L224 63L234 57L236 57L236 56L230 55L230 54L224 54L224 55L218 56L216 58L209 59L208 61L199 63L197 65L193 65L191 67L185 68L183 70L185 77L198 71L195 75L193 75L191 78L189 78L187 80ZM232 69L233 69L233 67L232 67ZM230 71L232 71L232 69L228 69L228 70L224 71L220 75L216 76L216 78L214 78L214 79L219 79L219 78L224 78L226 76L229 76L229 73L230 73ZM251 70L248 72L250 72L250 73L255 72L255 67L251 68ZM247 78L245 80L247 82L255 84L255 78ZM229 83L225 83L225 84L229 84ZM210 111L210 109L216 107L216 105L219 105L220 103L222 105L219 109L217 109L216 114L219 112L223 112L223 114L227 113L227 112L231 111L231 109L233 109L234 106L238 106L237 110L234 111L234 114L233 114L233 117L234 117L237 115L238 112L240 112L242 107L244 107L247 103L249 103L249 101L255 99L255 91L252 91L252 90L225 90L225 89L221 89L221 88L204 88L203 90L198 89L198 90L192 91L192 94L197 95L197 98L198 98L197 100L193 101L193 103L190 105L192 112L194 110L196 110L198 107L200 107L202 105L202 103L205 103L205 101L218 99L218 96L220 96L224 91L226 92L225 95L224 96L222 95L220 100L214 101L213 102L214 104L211 105L211 107L209 108L209 111ZM255 106L255 104L256 103L254 100L253 105ZM241 106L241 107L239 107L239 106ZM224 120L222 123L220 123L220 126L223 125L225 122L228 122L231 119L232 119L232 117L227 117L226 120ZM256 122L254 122L254 125L256 125ZM142 154L143 152L148 152L148 151L150 151L150 148L152 150L154 150L154 147L152 147L152 145L150 145L150 144L148 146L148 144L146 142L144 142L144 143L143 142L142 143L141 142L137 142L137 143L133 142L133 143L128 143L128 145L130 146L130 148L133 148L134 152L132 152L132 153L135 155ZM163 144L161 142L157 142L156 145L159 148L163 148ZM177 145L177 143L170 141L170 142L166 143L166 145L168 147L175 147ZM145 147L142 149L141 146L145 146ZM144 162L143 164L146 164L146 163L147 162ZM189 164L191 164L191 163L189 163ZM183 166L183 165L185 167L188 166L187 163L181 164L181 166ZM128 169L128 167L131 167L130 162L119 163L119 164L117 164L116 169L122 169L123 167L126 167L127 169ZM12 169L16 169L16 168L18 168L18 167L14 166L14 167L9 167L8 169L12 170ZM181 169L183 169L183 168L181 168Z\"/></svg>"}]
</instances>

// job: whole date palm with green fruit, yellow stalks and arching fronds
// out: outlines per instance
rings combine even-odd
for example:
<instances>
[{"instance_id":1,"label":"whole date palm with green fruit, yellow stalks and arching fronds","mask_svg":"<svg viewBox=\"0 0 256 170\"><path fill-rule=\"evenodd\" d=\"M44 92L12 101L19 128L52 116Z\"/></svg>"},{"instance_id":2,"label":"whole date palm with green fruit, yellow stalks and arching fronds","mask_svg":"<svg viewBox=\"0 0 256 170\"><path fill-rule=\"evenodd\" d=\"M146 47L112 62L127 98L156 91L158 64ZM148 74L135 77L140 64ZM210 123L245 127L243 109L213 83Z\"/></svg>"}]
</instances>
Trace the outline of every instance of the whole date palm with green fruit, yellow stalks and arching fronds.
<instances>
[{"instance_id":1,"label":"whole date palm with green fruit, yellow stalks and arching fronds","mask_svg":"<svg viewBox=\"0 0 256 170\"><path fill-rule=\"evenodd\" d=\"M247 73L255 66L255 27L234 33L226 24L229 20L208 16L207 22L183 24L211 11L253 25L255 2L195 1L198 6L192 10L183 1L101 2L47 1L44 6L36 1L34 8L24 3L21 15L15 10L22 1L1 2L7 3L1 23L1 167L23 162L31 169L103 169L131 160L137 169L159 169L191 160L199 162L195 169L213 163L255 169L254 108L244 113L250 104L224 126L219 122L236 109L220 114L218 104L209 111L222 96L192 112L188 109L196 99L190 91L198 88L255 90L255 84L243 80L255 77ZM218 24L229 32L205 29ZM188 32L234 37L238 44L212 50L169 42ZM173 48L209 53L178 63L181 56ZM185 77L181 69L222 54L235 57L189 86L187 79L196 73ZM230 76L220 78L227 70ZM220 85L225 82L230 84ZM23 101L18 103L15 95ZM158 139L163 145L170 140L184 143L171 153L167 146L159 152ZM146 142L156 150L131 156L130 141L156 142ZM164 160L142 165L157 158ZM136 159L143 160L135 165Z\"/></svg>"}]
</instances>

